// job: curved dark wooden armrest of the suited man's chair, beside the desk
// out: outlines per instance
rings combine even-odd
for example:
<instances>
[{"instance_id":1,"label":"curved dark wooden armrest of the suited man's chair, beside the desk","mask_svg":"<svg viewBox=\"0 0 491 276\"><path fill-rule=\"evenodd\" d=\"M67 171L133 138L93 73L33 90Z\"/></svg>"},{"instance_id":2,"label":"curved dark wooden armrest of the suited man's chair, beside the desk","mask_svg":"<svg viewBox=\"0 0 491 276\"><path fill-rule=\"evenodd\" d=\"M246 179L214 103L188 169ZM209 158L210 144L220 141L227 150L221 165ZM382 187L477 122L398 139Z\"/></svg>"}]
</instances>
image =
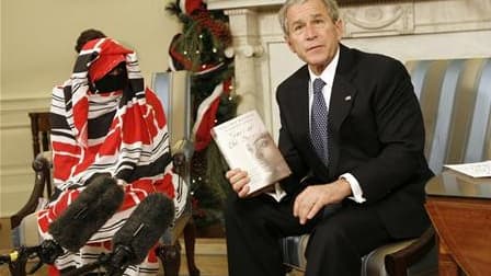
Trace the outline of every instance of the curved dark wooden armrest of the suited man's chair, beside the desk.
<instances>
[{"instance_id":1,"label":"curved dark wooden armrest of the suited man's chair, beside the desk","mask_svg":"<svg viewBox=\"0 0 491 276\"><path fill-rule=\"evenodd\" d=\"M386 271L389 275L407 275L407 269L420 261L435 245L435 230L430 226L426 231L410 245L387 254Z\"/></svg>"}]
</instances>

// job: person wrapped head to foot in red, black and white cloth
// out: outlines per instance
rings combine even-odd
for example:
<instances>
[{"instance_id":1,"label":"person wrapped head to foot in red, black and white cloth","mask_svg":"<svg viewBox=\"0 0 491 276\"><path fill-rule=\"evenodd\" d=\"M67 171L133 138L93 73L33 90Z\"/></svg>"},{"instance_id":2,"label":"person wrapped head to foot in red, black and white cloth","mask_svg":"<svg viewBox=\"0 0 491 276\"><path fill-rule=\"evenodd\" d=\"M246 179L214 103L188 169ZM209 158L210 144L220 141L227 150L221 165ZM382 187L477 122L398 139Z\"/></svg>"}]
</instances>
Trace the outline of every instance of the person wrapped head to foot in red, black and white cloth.
<instances>
[{"instance_id":1,"label":"person wrapped head to foot in red, black and white cloth","mask_svg":"<svg viewBox=\"0 0 491 276\"><path fill-rule=\"evenodd\" d=\"M88 31L78 39L79 55L71 78L53 90L56 188L38 212L41 235L52 238L49 225L94 175L110 174L125 196L118 210L79 252L65 250L49 267L50 275L92 263L94 256L111 252L112 237L148 195L162 193L174 198L175 217L185 205L176 202L185 197L175 194L182 189L174 185L182 185L182 181L172 172L164 111L153 91L145 88L136 54L102 32ZM129 266L124 275L152 275L158 268L157 256L150 250L141 264Z\"/></svg>"}]
</instances>

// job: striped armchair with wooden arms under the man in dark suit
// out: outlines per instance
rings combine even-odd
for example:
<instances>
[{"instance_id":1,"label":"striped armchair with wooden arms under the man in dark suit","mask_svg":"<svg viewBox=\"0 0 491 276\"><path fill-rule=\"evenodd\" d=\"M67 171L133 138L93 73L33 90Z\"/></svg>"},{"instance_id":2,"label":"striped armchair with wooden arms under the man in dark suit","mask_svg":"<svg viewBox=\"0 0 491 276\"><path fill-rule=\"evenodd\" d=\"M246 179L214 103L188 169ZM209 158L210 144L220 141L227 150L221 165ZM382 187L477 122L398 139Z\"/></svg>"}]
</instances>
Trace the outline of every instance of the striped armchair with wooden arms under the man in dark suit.
<instances>
[{"instance_id":1,"label":"striped armchair with wooden arms under the man in dark suit","mask_svg":"<svg viewBox=\"0 0 491 276\"><path fill-rule=\"evenodd\" d=\"M435 173L446 163L491 156L491 58L407 62L426 128L425 154ZM305 271L308 234L281 240L284 264ZM436 275L435 232L380 246L362 258L361 275Z\"/></svg>"}]
</instances>

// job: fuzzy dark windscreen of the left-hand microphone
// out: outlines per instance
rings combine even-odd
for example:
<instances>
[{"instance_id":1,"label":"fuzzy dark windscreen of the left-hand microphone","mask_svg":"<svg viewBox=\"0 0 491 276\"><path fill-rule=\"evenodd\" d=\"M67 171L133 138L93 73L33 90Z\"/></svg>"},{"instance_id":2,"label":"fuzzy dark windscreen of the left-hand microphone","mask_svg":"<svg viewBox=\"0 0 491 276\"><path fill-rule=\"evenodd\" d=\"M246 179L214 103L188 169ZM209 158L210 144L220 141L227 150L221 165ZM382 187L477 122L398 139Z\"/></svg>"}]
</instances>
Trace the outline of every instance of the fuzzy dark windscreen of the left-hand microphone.
<instances>
[{"instance_id":1,"label":"fuzzy dark windscreen of the left-hand microphone","mask_svg":"<svg viewBox=\"0 0 491 276\"><path fill-rule=\"evenodd\" d=\"M77 252L116 212L124 191L109 174L94 176L80 195L49 225L49 233L62 248Z\"/></svg>"}]
</instances>

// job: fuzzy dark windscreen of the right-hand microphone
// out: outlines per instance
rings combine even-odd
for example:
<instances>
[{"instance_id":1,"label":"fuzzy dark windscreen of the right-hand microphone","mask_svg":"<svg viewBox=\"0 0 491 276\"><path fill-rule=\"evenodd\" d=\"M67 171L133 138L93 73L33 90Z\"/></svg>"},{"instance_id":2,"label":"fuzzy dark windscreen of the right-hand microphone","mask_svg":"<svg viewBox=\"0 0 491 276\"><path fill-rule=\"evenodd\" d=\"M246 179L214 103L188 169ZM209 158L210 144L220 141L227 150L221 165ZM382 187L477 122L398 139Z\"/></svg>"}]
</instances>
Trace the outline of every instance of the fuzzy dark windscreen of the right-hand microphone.
<instances>
[{"instance_id":1,"label":"fuzzy dark windscreen of the right-hand microphone","mask_svg":"<svg viewBox=\"0 0 491 276\"><path fill-rule=\"evenodd\" d=\"M160 193L148 195L113 237L113 249L129 249L124 264L140 264L174 219L174 203Z\"/></svg>"}]
</instances>

